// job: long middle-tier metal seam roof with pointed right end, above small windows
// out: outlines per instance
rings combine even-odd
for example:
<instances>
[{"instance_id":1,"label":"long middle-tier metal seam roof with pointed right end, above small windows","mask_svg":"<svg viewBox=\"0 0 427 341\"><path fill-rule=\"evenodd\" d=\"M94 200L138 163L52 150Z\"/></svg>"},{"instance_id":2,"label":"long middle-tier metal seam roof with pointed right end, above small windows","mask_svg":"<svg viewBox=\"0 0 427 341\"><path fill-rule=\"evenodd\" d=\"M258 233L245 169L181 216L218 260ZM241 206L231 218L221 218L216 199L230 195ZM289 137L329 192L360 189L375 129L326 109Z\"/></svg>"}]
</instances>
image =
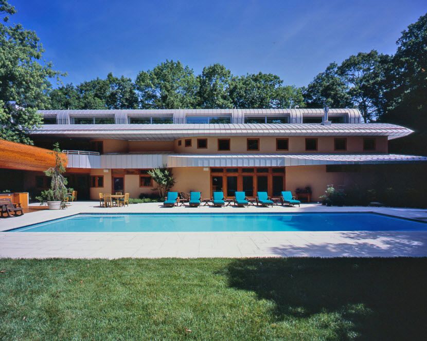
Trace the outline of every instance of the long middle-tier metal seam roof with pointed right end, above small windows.
<instances>
[{"instance_id":1,"label":"long middle-tier metal seam roof with pointed right end, above small windows","mask_svg":"<svg viewBox=\"0 0 427 341\"><path fill-rule=\"evenodd\" d=\"M299 124L52 124L32 135L121 140L174 140L198 136L387 136L389 140L413 130L387 123Z\"/></svg>"}]
</instances>

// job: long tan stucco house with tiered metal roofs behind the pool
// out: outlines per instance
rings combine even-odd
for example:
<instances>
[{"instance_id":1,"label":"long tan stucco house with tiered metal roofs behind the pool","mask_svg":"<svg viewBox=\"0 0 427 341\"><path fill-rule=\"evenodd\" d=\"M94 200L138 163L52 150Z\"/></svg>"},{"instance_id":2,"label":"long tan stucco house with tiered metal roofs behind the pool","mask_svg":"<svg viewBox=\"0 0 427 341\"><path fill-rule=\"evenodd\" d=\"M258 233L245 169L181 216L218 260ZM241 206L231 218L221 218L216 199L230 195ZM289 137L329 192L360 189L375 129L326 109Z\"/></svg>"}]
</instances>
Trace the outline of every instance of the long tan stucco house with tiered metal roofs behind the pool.
<instances>
[{"instance_id":1,"label":"long tan stucco house with tiered metal roofs behind the pool","mask_svg":"<svg viewBox=\"0 0 427 341\"><path fill-rule=\"evenodd\" d=\"M152 194L148 171L172 169L179 192L227 197L245 191L279 196L305 192L317 201L328 184L346 188L411 172L427 158L388 154L388 141L411 129L362 123L357 109L39 110L44 125L35 145L59 142L67 177L79 198L124 191ZM402 168L406 167L406 168ZM393 169L393 171L392 171ZM402 171L403 169L403 171ZM425 168L424 168L425 169ZM45 185L43 173L26 184ZM303 194L300 194L302 197Z\"/></svg>"}]
</instances>

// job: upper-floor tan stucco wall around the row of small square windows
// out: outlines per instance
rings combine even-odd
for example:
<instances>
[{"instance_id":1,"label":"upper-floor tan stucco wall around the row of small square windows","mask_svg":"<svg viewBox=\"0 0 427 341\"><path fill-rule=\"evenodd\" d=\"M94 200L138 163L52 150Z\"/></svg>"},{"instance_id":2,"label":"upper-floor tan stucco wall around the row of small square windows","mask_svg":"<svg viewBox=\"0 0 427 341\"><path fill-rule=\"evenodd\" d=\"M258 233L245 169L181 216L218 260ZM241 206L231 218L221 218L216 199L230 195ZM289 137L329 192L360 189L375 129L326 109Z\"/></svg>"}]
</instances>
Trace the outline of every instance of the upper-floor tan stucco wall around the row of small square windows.
<instances>
[{"instance_id":1,"label":"upper-floor tan stucco wall around the row of small square windows","mask_svg":"<svg viewBox=\"0 0 427 341\"><path fill-rule=\"evenodd\" d=\"M257 138L257 137L253 137ZM313 137L314 138L314 137ZM371 137L370 137L371 138ZM209 137L207 138L207 148L197 148L197 137L191 139L191 146L185 147L186 139L174 141L175 151L177 153L191 154L297 154L297 153L387 153L387 137L376 137L376 150L363 150L363 137L347 137L347 150L334 150L334 137L317 138L317 151L306 151L305 137L289 137L289 150L276 150L276 137L259 137L259 150L246 150L247 137ZM200 139L200 137L199 137ZM218 150L218 139L230 139L230 150ZM181 146L178 141L181 140Z\"/></svg>"}]
</instances>

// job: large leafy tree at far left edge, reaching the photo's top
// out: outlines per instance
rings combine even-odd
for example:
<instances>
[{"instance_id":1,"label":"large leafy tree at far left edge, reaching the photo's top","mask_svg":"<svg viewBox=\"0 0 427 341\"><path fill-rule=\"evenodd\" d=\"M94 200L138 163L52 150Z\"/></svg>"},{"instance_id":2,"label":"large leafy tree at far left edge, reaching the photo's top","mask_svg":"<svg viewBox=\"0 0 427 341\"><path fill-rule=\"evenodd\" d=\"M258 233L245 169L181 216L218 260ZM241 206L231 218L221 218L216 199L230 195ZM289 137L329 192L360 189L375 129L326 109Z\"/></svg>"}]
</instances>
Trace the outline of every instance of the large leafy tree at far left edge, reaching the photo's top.
<instances>
[{"instance_id":1,"label":"large leafy tree at far left edge, reaching the photo's top","mask_svg":"<svg viewBox=\"0 0 427 341\"><path fill-rule=\"evenodd\" d=\"M44 49L34 31L8 23L15 13L0 0L0 138L32 144L29 132L42 123L37 109L49 103L48 79L61 73L51 63L40 63Z\"/></svg>"}]
</instances>

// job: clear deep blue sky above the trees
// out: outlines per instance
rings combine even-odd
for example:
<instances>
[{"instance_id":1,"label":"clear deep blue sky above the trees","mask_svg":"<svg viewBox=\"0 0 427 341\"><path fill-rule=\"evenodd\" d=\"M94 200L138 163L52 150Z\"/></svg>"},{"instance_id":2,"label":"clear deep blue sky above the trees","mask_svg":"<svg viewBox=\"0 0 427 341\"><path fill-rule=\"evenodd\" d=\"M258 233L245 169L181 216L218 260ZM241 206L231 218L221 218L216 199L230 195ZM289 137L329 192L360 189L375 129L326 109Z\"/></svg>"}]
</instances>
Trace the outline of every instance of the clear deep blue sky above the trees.
<instances>
[{"instance_id":1,"label":"clear deep blue sky above the trees","mask_svg":"<svg viewBox=\"0 0 427 341\"><path fill-rule=\"evenodd\" d=\"M307 85L359 51L394 53L424 1L10 0L11 22L39 35L44 58L80 83L108 72L135 78L166 59L201 72L272 72Z\"/></svg>"}]
</instances>

